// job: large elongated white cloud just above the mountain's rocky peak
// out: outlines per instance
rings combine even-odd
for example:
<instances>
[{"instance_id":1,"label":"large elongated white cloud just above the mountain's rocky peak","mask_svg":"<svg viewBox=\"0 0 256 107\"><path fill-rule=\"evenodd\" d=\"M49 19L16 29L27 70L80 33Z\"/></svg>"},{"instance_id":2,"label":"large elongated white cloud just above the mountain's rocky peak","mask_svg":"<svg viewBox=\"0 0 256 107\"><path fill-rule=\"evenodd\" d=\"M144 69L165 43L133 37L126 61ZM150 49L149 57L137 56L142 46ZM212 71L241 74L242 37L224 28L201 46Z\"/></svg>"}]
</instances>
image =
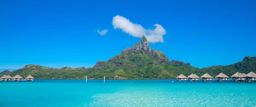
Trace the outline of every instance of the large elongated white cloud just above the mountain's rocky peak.
<instances>
[{"instance_id":1,"label":"large elongated white cloud just above the mountain's rocky peak","mask_svg":"<svg viewBox=\"0 0 256 107\"><path fill-rule=\"evenodd\" d=\"M114 29L122 29L122 32L137 38L141 38L142 35L145 35L150 43L163 43L163 35L166 35L166 30L160 24L154 24L154 26L156 26L155 29L145 29L140 24L132 23L129 19L119 15L113 17L112 25Z\"/></svg>"}]
</instances>

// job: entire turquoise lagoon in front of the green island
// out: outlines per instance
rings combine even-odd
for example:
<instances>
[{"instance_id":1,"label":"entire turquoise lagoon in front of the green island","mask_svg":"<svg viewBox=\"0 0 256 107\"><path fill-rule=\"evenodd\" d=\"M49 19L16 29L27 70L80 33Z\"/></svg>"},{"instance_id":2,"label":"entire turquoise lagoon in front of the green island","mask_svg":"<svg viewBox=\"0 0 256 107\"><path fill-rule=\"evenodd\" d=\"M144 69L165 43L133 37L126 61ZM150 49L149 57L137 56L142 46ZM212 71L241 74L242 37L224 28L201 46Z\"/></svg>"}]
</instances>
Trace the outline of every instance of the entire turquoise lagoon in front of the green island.
<instances>
[{"instance_id":1,"label":"entire turquoise lagoon in front of the green island","mask_svg":"<svg viewBox=\"0 0 256 107\"><path fill-rule=\"evenodd\" d=\"M0 82L0 107L255 107L256 83L172 80Z\"/></svg>"}]
</instances>

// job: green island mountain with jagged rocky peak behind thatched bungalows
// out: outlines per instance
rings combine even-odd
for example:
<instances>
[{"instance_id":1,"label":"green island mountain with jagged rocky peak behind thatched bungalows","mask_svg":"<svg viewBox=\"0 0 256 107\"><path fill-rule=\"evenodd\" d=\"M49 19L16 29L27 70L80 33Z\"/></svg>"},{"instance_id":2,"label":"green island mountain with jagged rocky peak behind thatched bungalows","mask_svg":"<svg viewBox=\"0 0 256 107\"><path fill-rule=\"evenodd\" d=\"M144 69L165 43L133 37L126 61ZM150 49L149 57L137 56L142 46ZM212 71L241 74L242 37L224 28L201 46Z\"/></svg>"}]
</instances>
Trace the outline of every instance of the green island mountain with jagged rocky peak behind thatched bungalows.
<instances>
[{"instance_id":1,"label":"green island mountain with jagged rocky peak behind thatched bungalows","mask_svg":"<svg viewBox=\"0 0 256 107\"><path fill-rule=\"evenodd\" d=\"M98 61L91 68L49 68L39 65L26 65L25 67L12 71L0 72L2 75L20 75L26 78L32 75L38 79L164 79L176 78L178 75L190 75L195 73L198 76L208 73L215 77L220 72L233 75L236 72L256 72L256 57L245 57L243 61L228 66L213 66L197 68L182 61L170 61L160 50L151 49L145 36L141 42L131 48L122 50L121 54L110 58L108 61Z\"/></svg>"}]
</instances>

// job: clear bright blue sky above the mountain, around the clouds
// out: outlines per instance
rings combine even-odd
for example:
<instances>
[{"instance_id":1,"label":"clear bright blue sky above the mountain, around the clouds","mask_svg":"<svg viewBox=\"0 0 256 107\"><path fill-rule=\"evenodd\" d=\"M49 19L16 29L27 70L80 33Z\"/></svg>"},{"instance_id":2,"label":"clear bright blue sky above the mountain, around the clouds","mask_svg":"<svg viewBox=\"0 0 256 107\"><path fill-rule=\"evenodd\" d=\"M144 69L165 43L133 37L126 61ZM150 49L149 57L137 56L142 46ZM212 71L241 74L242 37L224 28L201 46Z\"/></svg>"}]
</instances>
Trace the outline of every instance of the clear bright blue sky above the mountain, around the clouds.
<instances>
[{"instance_id":1,"label":"clear bright blue sky above the mountain, around the clouds","mask_svg":"<svg viewBox=\"0 0 256 107\"><path fill-rule=\"evenodd\" d=\"M255 6L255 0L1 0L0 68L107 61L140 41L114 28L117 15L144 29L162 26L163 41L151 48L170 60L200 68L233 64L256 56Z\"/></svg>"}]
</instances>

